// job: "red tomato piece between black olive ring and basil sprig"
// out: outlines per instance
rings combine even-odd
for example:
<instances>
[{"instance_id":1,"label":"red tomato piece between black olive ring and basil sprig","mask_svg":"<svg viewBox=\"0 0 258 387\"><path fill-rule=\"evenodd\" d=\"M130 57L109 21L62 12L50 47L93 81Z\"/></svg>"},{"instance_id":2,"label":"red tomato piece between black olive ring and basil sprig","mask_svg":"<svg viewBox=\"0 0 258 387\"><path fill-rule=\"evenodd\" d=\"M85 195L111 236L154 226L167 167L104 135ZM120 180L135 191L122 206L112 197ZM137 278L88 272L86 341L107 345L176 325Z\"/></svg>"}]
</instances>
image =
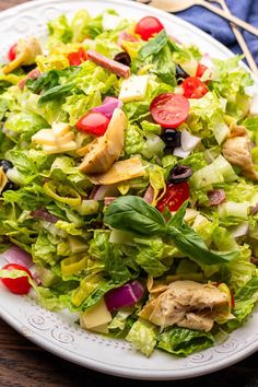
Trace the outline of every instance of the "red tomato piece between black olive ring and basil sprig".
<instances>
[{"instance_id":1,"label":"red tomato piece between black olive ring and basil sprig","mask_svg":"<svg viewBox=\"0 0 258 387\"><path fill-rule=\"evenodd\" d=\"M169 211L177 211L189 197L190 190L187 181L168 184L166 186L166 194L157 202L156 208L161 212L163 212L166 207L168 207Z\"/></svg>"}]
</instances>

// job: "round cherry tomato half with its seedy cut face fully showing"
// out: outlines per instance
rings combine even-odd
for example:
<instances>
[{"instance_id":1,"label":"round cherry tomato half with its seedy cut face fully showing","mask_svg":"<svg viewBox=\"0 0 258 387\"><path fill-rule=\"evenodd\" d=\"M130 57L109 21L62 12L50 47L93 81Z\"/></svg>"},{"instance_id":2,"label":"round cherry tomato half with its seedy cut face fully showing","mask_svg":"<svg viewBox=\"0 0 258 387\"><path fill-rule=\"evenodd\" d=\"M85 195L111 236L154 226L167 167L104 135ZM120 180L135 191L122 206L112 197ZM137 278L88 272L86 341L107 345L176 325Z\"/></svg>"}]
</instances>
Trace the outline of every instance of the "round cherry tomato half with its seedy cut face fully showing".
<instances>
[{"instance_id":1,"label":"round cherry tomato half with its seedy cut face fully showing","mask_svg":"<svg viewBox=\"0 0 258 387\"><path fill-rule=\"evenodd\" d=\"M188 117L190 104L180 94L164 93L151 103L151 115L163 128L177 128Z\"/></svg>"}]
</instances>

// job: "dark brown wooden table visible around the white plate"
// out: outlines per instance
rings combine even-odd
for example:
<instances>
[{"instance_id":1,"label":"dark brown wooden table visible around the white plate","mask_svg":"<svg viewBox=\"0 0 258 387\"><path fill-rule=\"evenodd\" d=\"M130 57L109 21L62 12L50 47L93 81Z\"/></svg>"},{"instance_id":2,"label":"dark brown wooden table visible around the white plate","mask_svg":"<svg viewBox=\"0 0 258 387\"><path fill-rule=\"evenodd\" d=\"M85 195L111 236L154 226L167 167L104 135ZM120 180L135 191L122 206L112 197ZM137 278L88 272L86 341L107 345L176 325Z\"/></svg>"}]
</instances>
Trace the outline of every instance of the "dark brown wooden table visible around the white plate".
<instances>
[{"instance_id":1,"label":"dark brown wooden table visible around the white plate","mask_svg":"<svg viewBox=\"0 0 258 387\"><path fill-rule=\"evenodd\" d=\"M244 1L244 0L243 0ZM25 2L0 0L0 10ZM224 371L181 382L136 382L107 376L68 363L34 345L0 320L0 387L258 387L258 355Z\"/></svg>"}]
</instances>

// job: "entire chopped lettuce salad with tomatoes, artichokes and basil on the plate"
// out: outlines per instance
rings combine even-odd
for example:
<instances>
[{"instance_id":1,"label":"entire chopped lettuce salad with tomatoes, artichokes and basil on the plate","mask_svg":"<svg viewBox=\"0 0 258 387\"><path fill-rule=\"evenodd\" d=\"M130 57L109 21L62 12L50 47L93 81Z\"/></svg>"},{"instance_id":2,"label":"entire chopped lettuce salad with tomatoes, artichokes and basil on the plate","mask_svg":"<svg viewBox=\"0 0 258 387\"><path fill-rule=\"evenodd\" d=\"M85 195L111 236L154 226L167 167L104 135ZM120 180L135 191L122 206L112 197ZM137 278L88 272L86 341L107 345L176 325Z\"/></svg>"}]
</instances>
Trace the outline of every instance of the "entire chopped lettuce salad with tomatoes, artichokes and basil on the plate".
<instances>
[{"instance_id":1,"label":"entire chopped lettuce salad with tomatoes, artichokes and basil on the plate","mask_svg":"<svg viewBox=\"0 0 258 387\"><path fill-rule=\"evenodd\" d=\"M162 22L86 10L0 67L3 285L150 356L225 340L258 300L258 95Z\"/></svg>"}]
</instances>

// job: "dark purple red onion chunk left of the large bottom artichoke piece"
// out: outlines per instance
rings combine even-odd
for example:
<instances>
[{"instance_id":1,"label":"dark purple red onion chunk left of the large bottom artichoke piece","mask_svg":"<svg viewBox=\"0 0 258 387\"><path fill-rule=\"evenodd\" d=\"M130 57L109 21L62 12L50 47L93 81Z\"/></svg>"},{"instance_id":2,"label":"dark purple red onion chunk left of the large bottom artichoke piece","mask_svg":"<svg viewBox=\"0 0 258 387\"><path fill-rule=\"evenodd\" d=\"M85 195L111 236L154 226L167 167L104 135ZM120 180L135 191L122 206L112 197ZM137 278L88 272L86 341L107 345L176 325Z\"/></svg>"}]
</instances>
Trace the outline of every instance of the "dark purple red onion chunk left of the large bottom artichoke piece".
<instances>
[{"instance_id":1,"label":"dark purple red onion chunk left of the large bottom artichoke piece","mask_svg":"<svg viewBox=\"0 0 258 387\"><path fill-rule=\"evenodd\" d=\"M128 282L105 294L106 306L108 310L116 310L125 306L134 305L142 297L143 291L144 289L140 282Z\"/></svg>"}]
</instances>

